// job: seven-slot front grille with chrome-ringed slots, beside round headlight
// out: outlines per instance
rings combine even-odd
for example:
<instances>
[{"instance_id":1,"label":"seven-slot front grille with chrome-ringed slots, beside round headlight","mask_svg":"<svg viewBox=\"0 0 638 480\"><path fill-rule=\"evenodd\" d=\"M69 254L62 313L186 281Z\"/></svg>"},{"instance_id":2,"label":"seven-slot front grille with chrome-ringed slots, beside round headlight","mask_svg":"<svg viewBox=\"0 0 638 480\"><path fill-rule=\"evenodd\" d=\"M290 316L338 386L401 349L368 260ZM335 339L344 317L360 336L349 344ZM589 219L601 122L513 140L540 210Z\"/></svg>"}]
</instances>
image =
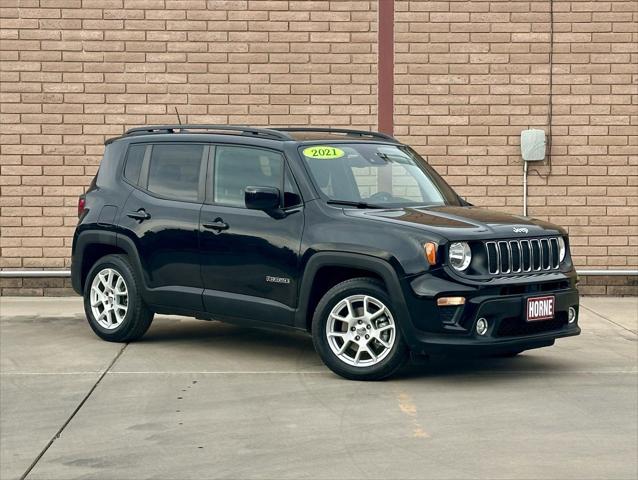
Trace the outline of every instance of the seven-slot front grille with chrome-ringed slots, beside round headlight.
<instances>
[{"instance_id":1,"label":"seven-slot front grille with chrome-ringed slots, beside round headlight","mask_svg":"<svg viewBox=\"0 0 638 480\"><path fill-rule=\"evenodd\" d=\"M558 239L530 238L485 242L487 270L492 275L556 270Z\"/></svg>"}]
</instances>

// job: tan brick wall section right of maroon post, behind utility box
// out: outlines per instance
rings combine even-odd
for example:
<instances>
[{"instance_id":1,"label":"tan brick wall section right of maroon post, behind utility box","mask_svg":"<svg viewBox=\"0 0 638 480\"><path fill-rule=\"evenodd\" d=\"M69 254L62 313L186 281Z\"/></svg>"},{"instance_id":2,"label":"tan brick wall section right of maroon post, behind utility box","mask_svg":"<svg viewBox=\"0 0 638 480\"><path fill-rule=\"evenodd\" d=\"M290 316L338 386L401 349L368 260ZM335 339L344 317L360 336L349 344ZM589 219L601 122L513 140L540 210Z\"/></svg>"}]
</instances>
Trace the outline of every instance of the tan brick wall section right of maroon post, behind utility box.
<instances>
[{"instance_id":1,"label":"tan brick wall section right of maroon post, behind utility box","mask_svg":"<svg viewBox=\"0 0 638 480\"><path fill-rule=\"evenodd\" d=\"M638 265L638 2L554 0L551 167L529 214L578 267ZM470 202L522 212L520 132L547 131L548 0L398 1L396 133Z\"/></svg>"}]
</instances>

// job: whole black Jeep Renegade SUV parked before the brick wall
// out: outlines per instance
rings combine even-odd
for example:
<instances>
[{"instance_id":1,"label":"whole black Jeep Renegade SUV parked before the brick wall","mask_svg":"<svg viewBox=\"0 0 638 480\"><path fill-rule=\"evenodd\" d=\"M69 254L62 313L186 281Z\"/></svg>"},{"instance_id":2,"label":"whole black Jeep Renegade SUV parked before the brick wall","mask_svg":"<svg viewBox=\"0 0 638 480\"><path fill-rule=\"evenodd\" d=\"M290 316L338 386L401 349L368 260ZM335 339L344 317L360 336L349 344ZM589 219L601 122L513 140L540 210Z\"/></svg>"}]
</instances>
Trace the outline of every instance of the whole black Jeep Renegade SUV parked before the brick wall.
<instances>
[{"instance_id":1,"label":"whole black Jeep Renegade SUV parked before the brick wall","mask_svg":"<svg viewBox=\"0 0 638 480\"><path fill-rule=\"evenodd\" d=\"M72 279L91 328L153 314L307 330L334 372L515 355L578 335L566 232L475 208L374 132L134 128L106 142L78 204Z\"/></svg>"}]
</instances>

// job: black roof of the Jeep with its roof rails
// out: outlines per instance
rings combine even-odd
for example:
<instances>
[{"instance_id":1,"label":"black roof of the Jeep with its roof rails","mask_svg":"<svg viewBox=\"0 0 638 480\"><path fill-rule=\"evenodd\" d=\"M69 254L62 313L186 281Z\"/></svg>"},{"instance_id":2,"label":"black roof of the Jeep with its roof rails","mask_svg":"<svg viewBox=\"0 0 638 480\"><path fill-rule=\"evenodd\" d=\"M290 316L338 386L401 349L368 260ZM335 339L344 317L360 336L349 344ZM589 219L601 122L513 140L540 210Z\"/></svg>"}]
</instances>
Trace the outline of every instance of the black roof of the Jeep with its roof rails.
<instances>
[{"instance_id":1,"label":"black roof of the Jeep with its roof rails","mask_svg":"<svg viewBox=\"0 0 638 480\"><path fill-rule=\"evenodd\" d=\"M366 130L352 130L345 128L327 127L275 127L259 128L248 125L148 125L131 128L124 135L106 141L139 135L155 134L205 133L214 135L239 135L253 138L264 138L280 141L308 141L308 140L382 140L396 142L397 140L384 133Z\"/></svg>"}]
</instances>

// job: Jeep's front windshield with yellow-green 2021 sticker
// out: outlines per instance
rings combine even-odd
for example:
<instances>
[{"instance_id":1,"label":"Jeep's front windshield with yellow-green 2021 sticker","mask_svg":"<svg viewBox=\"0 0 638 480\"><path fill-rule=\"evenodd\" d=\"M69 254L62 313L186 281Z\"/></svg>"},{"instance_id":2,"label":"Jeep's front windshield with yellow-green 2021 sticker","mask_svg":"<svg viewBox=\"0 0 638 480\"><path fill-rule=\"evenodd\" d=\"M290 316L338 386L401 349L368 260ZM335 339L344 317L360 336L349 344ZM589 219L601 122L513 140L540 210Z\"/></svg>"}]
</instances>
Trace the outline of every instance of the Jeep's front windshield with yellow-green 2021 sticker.
<instances>
[{"instance_id":1,"label":"Jeep's front windshield with yellow-green 2021 sticker","mask_svg":"<svg viewBox=\"0 0 638 480\"><path fill-rule=\"evenodd\" d=\"M331 202L365 206L460 205L458 196L409 147L322 143L300 147L317 188Z\"/></svg>"}]
</instances>

